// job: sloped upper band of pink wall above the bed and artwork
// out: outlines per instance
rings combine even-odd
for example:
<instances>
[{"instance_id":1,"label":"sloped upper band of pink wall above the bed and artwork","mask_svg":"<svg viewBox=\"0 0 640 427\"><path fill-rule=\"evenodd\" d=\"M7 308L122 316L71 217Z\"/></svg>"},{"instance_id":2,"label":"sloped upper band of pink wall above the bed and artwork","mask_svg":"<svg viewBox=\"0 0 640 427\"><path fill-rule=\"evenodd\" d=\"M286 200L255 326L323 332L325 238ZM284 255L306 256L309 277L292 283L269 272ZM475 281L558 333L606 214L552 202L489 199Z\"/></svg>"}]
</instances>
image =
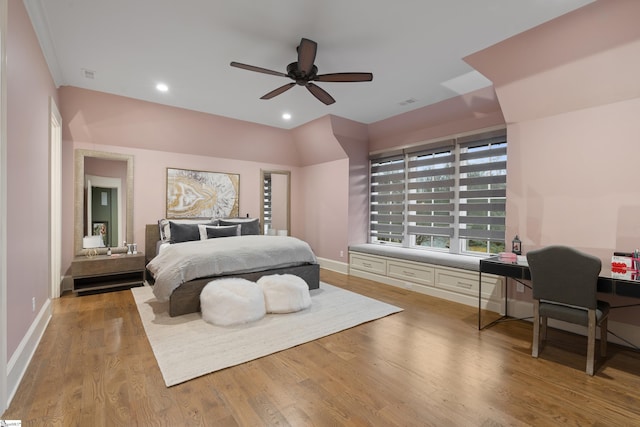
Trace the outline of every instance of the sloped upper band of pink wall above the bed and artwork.
<instances>
[{"instance_id":1,"label":"sloped upper band of pink wall above the bed and artwork","mask_svg":"<svg viewBox=\"0 0 640 427\"><path fill-rule=\"evenodd\" d=\"M298 165L289 131L122 96L59 89L63 139L207 157Z\"/></svg>"}]
</instances>

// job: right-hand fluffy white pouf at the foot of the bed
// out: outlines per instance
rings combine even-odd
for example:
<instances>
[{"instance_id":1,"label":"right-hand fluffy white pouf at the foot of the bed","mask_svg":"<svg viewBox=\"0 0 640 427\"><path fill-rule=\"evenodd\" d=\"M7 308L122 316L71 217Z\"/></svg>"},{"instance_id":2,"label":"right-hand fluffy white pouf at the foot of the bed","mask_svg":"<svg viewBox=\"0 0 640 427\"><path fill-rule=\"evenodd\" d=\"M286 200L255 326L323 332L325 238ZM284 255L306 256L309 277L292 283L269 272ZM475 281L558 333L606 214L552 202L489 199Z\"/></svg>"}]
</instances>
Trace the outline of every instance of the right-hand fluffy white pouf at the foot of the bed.
<instances>
[{"instance_id":1,"label":"right-hand fluffy white pouf at the foot of the bed","mask_svg":"<svg viewBox=\"0 0 640 427\"><path fill-rule=\"evenodd\" d=\"M311 306L309 286L293 274L273 274L258 279L267 313L293 313Z\"/></svg>"}]
</instances>

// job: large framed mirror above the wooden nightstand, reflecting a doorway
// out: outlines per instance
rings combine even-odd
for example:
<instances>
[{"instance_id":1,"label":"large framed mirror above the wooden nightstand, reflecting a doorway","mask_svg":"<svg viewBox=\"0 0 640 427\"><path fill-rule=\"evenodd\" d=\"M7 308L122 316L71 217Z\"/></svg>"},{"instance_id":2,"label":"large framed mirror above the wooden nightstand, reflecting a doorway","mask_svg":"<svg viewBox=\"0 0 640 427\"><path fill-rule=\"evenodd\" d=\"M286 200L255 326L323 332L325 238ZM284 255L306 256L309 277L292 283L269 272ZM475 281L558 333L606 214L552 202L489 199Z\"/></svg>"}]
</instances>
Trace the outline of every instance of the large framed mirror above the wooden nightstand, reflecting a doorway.
<instances>
[{"instance_id":1,"label":"large framed mirror above the wooden nightstand, reflecting a doorway","mask_svg":"<svg viewBox=\"0 0 640 427\"><path fill-rule=\"evenodd\" d=\"M75 150L74 250L125 252L133 242L133 156Z\"/></svg>"}]
</instances>

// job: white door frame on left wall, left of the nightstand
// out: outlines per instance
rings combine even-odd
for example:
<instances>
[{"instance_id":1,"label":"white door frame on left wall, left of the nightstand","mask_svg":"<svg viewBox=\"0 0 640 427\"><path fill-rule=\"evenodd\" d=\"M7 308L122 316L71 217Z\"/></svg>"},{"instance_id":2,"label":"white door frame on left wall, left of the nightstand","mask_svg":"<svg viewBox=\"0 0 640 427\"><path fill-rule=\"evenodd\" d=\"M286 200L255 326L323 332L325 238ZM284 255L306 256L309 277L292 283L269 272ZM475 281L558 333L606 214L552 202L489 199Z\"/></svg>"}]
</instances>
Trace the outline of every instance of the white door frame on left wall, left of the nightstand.
<instances>
[{"instance_id":1,"label":"white door frame on left wall, left of the nightstand","mask_svg":"<svg viewBox=\"0 0 640 427\"><path fill-rule=\"evenodd\" d=\"M62 283L62 118L51 97L49 117L49 298L59 298Z\"/></svg>"}]
</instances>

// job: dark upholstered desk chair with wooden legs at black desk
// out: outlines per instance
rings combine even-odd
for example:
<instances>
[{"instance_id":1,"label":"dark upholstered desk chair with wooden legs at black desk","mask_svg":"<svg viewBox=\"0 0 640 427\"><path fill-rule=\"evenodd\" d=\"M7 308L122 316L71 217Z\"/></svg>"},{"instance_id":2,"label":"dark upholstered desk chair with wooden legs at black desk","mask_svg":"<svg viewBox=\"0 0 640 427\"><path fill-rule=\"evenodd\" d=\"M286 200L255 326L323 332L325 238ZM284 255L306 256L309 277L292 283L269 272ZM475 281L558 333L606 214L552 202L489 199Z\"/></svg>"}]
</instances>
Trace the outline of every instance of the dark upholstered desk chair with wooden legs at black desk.
<instances>
[{"instance_id":1,"label":"dark upholstered desk chair with wooden legs at black desk","mask_svg":"<svg viewBox=\"0 0 640 427\"><path fill-rule=\"evenodd\" d=\"M586 326L587 374L595 365L596 327L600 327L600 356L607 353L609 303L597 299L599 258L566 246L548 246L527 253L533 290L533 348L538 357L547 335L547 318ZM542 329L541 329L542 328Z\"/></svg>"}]
</instances>

